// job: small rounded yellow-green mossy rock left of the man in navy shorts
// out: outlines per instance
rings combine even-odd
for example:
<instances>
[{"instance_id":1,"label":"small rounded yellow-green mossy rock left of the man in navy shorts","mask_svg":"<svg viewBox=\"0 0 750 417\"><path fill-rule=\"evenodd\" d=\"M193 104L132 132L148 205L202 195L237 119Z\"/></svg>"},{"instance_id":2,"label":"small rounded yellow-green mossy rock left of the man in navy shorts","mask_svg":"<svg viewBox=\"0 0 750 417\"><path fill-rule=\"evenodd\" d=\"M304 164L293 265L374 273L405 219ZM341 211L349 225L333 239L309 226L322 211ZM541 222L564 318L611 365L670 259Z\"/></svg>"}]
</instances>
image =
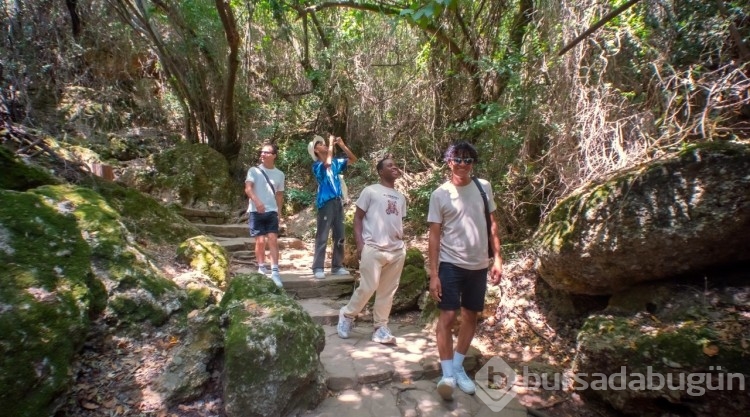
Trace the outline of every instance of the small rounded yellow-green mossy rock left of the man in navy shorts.
<instances>
[{"instance_id":1,"label":"small rounded yellow-green mossy rock left of the man in navy shorts","mask_svg":"<svg viewBox=\"0 0 750 417\"><path fill-rule=\"evenodd\" d=\"M219 287L229 273L227 251L209 236L192 237L177 247L177 257L191 268L206 274Z\"/></svg>"}]
</instances>

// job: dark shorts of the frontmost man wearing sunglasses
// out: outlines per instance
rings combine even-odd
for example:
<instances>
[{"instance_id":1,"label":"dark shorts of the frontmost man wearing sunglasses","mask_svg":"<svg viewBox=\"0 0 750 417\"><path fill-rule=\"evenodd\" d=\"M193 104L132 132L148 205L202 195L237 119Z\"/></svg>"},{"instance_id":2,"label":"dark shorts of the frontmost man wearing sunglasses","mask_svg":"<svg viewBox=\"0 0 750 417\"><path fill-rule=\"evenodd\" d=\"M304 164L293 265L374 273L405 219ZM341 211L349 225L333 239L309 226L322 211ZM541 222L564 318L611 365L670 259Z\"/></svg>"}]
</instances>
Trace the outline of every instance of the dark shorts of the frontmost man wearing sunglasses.
<instances>
[{"instance_id":1,"label":"dark shorts of the frontmost man wearing sunglasses","mask_svg":"<svg viewBox=\"0 0 750 417\"><path fill-rule=\"evenodd\" d=\"M441 310L484 310L484 295L487 293L487 268L464 269L448 262L440 262L438 277L443 294L438 308Z\"/></svg>"}]
</instances>

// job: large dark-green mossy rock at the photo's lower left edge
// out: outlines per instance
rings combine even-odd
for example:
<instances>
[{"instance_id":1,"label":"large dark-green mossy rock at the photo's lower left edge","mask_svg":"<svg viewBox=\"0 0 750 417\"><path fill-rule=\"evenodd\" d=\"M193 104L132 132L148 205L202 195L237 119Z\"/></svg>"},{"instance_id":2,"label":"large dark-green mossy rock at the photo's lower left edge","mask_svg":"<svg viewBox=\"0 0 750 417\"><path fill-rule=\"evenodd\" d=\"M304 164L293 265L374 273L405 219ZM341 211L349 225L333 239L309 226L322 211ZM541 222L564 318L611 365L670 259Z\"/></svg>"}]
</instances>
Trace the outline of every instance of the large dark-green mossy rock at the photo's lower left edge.
<instances>
[{"instance_id":1,"label":"large dark-green mossy rock at the photo's lower left edge","mask_svg":"<svg viewBox=\"0 0 750 417\"><path fill-rule=\"evenodd\" d=\"M91 249L67 204L0 191L0 410L54 413L89 317L104 304Z\"/></svg>"}]
</instances>

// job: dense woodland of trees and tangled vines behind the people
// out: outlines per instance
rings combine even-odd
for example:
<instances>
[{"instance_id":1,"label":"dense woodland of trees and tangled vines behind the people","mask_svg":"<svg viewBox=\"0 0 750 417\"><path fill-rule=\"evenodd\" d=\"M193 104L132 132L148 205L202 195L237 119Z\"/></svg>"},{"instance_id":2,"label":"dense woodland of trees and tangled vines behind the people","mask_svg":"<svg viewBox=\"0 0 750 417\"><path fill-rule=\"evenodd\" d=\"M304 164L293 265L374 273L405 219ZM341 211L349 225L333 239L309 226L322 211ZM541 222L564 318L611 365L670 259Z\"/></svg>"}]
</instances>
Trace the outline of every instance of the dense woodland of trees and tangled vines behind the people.
<instances>
[{"instance_id":1,"label":"dense woodland of trees and tangled vines behind the people","mask_svg":"<svg viewBox=\"0 0 750 417\"><path fill-rule=\"evenodd\" d=\"M416 175L466 139L503 202L507 241L522 241L580 184L687 143L747 138L747 11L722 0L5 2L2 115L104 159L128 129L155 128L216 149L238 181L264 141L292 173L306 173L311 135L331 133ZM437 180L414 182L416 208ZM309 203L314 190L298 187L291 201Z\"/></svg>"}]
</instances>

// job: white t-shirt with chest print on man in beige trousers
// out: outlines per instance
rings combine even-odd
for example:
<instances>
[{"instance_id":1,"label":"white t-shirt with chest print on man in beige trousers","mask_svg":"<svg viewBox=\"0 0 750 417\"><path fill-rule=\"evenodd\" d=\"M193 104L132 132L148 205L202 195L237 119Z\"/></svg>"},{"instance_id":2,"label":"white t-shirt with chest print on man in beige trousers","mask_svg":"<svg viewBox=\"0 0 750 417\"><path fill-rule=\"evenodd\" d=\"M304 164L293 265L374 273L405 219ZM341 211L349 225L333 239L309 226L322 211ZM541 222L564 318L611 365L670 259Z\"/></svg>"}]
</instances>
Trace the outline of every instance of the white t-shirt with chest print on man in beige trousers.
<instances>
[{"instance_id":1,"label":"white t-shirt with chest print on man in beige trousers","mask_svg":"<svg viewBox=\"0 0 750 417\"><path fill-rule=\"evenodd\" d=\"M382 184L373 184L362 190L357 207L365 212L362 219L365 245L383 251L404 247L406 198L403 194Z\"/></svg>"}]
</instances>

